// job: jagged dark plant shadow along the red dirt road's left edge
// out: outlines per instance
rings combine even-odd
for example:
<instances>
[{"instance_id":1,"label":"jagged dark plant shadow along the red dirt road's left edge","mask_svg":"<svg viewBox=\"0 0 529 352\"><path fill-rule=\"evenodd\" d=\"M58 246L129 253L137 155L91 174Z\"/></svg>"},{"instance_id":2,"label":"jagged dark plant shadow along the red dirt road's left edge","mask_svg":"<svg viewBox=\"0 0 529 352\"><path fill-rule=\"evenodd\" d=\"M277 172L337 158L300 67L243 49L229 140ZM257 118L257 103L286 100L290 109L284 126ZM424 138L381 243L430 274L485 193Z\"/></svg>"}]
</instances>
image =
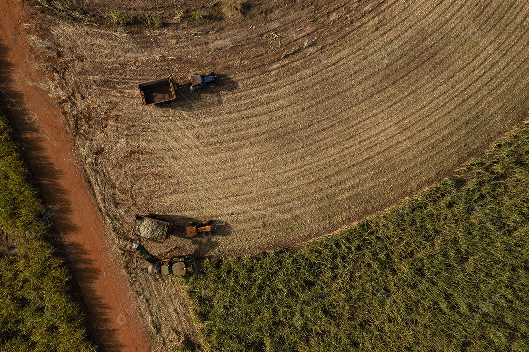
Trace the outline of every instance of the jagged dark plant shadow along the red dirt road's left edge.
<instances>
[{"instance_id":1,"label":"jagged dark plant shadow along the red dirt road's left edge","mask_svg":"<svg viewBox=\"0 0 529 352\"><path fill-rule=\"evenodd\" d=\"M23 94L13 87L12 72L9 70L12 65L7 59L9 52L0 42L0 113L7 119L13 140L17 145L23 146L17 152L29 166L30 171L25 176L31 186L38 190L37 197L43 200L46 207L45 213L41 214L41 220L50 225L50 228L42 239L52 245L53 254L65 261L72 275L67 282L67 294L86 315L84 322L88 328L88 338L101 350L122 350L124 346L117 339L116 330L110 328L114 325L112 319L115 317L110 315L109 307L102 303L103 300L90 285L82 285L86 282L97 282L101 279L102 272L95 268L93 260L82 245L64 243L62 240L61 233L76 233L80 229L72 221L74 215L68 194L57 181L63 172L45 156L43 145L54 145L56 141L41 127L36 115L38 112L31 112L26 108ZM28 236L33 235L30 229ZM50 314L54 319L52 311ZM57 322L60 324L59 320Z\"/></svg>"}]
</instances>

